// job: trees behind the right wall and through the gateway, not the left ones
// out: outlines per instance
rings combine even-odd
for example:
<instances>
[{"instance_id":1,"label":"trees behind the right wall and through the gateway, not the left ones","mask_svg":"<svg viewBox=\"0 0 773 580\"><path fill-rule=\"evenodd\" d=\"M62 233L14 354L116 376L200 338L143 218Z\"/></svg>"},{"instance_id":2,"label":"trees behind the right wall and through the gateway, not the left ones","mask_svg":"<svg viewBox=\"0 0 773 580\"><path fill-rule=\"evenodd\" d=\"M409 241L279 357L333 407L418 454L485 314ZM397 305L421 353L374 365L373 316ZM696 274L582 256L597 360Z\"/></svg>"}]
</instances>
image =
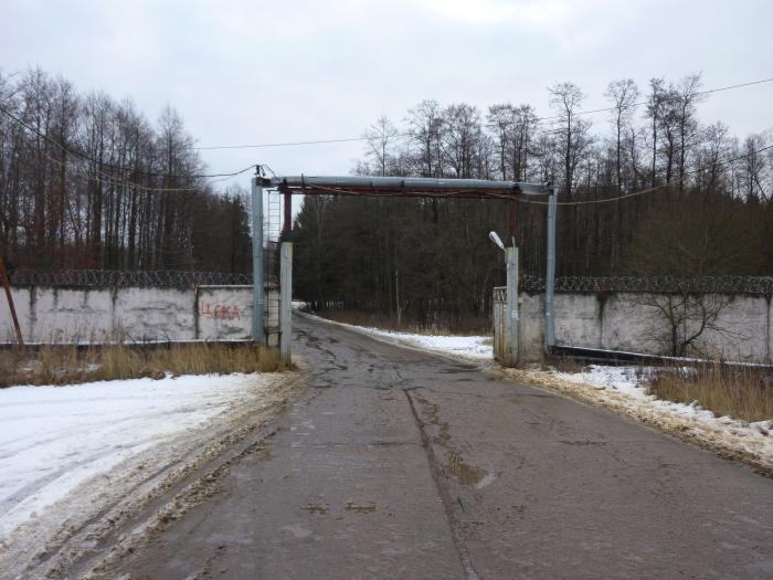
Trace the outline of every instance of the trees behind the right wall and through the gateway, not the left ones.
<instances>
[{"instance_id":1,"label":"trees behind the right wall and through the gateway, not the left ones","mask_svg":"<svg viewBox=\"0 0 773 580\"><path fill-rule=\"evenodd\" d=\"M580 88L557 84L544 120L531 105L425 101L400 127L372 125L354 171L560 184L560 202L583 203L559 208L559 275L773 274L771 135L740 141L721 122L701 124L699 75L655 78L645 94L617 81L606 96L608 113L583 115ZM484 319L504 282L488 232L507 233L507 213L499 200L307 197L296 295L420 325ZM544 275L544 205L518 204L515 236L522 271Z\"/></svg>"}]
</instances>

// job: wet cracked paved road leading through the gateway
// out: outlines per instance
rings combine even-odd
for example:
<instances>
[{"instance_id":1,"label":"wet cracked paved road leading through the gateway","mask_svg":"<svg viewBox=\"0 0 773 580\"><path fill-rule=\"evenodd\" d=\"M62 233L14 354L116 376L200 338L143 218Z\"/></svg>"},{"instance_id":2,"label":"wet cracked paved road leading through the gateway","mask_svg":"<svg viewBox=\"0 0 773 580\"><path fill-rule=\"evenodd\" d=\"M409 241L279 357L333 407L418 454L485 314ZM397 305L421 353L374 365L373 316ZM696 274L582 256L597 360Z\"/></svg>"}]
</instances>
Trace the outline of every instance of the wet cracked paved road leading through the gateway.
<instances>
[{"instance_id":1,"label":"wet cracked paved road leading through the gateway","mask_svg":"<svg viewBox=\"0 0 773 580\"><path fill-rule=\"evenodd\" d=\"M119 572L773 578L770 479L474 365L306 318L295 338L309 394Z\"/></svg>"}]
</instances>

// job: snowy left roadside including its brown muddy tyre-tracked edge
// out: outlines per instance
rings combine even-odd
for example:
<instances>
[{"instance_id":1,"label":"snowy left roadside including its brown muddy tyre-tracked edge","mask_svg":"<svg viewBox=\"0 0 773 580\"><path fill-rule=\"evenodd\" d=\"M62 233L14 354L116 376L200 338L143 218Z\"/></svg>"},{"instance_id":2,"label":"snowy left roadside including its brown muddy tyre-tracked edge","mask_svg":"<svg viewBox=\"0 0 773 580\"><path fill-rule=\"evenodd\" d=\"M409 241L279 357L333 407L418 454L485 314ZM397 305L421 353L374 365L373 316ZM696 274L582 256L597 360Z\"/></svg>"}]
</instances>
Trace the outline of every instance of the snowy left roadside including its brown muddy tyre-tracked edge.
<instances>
[{"instance_id":1,"label":"snowy left roadside including its brown muddy tyre-tracked edge","mask_svg":"<svg viewBox=\"0 0 773 580\"><path fill-rule=\"evenodd\" d=\"M0 389L0 569L47 560L85 528L93 541L215 455L240 419L266 416L288 382L267 373Z\"/></svg>"}]
</instances>

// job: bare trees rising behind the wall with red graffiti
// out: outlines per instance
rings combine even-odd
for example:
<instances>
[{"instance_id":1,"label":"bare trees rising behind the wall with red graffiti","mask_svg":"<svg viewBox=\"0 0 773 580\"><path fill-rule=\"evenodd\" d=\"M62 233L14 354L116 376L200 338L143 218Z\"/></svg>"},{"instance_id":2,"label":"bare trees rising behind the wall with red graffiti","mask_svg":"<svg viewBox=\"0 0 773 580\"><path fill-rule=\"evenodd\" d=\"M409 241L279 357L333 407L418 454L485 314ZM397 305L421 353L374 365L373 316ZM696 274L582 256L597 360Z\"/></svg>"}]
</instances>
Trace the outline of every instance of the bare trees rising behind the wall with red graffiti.
<instances>
[{"instance_id":1,"label":"bare trees rising behind the wall with red graffiti","mask_svg":"<svg viewBox=\"0 0 773 580\"><path fill-rule=\"evenodd\" d=\"M204 166L173 109L151 124L40 70L0 73L0 254L12 266L250 267L243 192L215 194L197 177Z\"/></svg>"}]
</instances>

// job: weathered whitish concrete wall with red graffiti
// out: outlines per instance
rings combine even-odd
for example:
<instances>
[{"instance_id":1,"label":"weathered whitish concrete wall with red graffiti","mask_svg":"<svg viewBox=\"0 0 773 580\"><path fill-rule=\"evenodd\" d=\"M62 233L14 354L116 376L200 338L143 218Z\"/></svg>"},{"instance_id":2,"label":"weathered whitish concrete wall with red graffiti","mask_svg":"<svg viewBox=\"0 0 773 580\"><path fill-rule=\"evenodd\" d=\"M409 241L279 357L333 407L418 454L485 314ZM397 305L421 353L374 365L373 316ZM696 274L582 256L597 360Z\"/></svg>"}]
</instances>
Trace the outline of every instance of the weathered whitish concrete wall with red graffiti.
<instances>
[{"instance_id":1,"label":"weathered whitish concrete wall with red graffiti","mask_svg":"<svg viewBox=\"0 0 773 580\"><path fill-rule=\"evenodd\" d=\"M250 338L252 286L189 289L121 287L81 289L46 286L12 291L28 342L126 340L229 340ZM14 341L4 296L0 341ZM266 287L266 331L278 339L278 289Z\"/></svg>"}]
</instances>

